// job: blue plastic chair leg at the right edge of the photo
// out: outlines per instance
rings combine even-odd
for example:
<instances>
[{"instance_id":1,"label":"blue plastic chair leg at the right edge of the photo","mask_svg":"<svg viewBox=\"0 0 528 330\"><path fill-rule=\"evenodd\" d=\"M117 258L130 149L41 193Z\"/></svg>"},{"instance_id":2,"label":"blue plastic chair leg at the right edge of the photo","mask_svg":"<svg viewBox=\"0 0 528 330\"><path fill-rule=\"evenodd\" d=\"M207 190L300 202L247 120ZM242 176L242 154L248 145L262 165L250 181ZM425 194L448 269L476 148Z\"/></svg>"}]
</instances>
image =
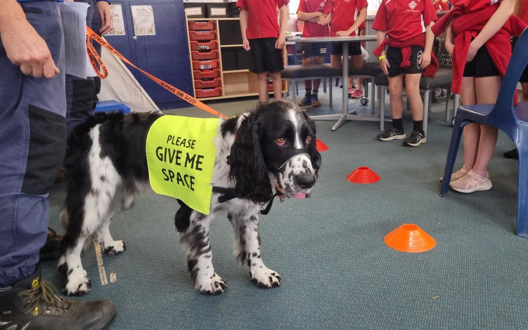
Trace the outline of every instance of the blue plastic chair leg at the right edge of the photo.
<instances>
[{"instance_id":1,"label":"blue plastic chair leg at the right edge of the photo","mask_svg":"<svg viewBox=\"0 0 528 330\"><path fill-rule=\"evenodd\" d=\"M525 144L526 145L526 144ZM519 152L519 182L517 205L517 235L528 238L528 145L517 146Z\"/></svg>"}]
</instances>

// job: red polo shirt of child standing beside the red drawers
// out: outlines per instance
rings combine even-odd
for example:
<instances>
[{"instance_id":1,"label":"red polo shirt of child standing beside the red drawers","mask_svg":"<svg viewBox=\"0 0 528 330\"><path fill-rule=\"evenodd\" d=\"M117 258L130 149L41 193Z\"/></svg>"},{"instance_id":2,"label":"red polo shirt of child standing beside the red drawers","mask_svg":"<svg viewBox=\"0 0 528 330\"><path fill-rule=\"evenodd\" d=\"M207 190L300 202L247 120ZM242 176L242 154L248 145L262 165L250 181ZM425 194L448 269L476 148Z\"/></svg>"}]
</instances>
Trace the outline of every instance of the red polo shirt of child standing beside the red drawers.
<instances>
[{"instance_id":1,"label":"red polo shirt of child standing beside the red drawers","mask_svg":"<svg viewBox=\"0 0 528 330\"><path fill-rule=\"evenodd\" d=\"M279 37L278 8L290 0L238 0L237 7L248 12L248 39Z\"/></svg>"}]
</instances>

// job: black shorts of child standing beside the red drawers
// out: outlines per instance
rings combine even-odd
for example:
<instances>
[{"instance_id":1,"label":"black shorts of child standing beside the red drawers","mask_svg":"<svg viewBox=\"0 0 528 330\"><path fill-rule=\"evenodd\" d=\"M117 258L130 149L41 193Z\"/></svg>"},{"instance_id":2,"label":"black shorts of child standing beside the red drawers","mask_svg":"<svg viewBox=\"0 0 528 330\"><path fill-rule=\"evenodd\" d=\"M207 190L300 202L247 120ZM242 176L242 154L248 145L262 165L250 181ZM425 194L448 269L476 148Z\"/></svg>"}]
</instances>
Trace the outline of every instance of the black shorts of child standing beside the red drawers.
<instances>
[{"instance_id":1,"label":"black shorts of child standing beside the red drawers","mask_svg":"<svg viewBox=\"0 0 528 330\"><path fill-rule=\"evenodd\" d=\"M277 38L249 39L251 66L253 73L280 72L284 69L282 50L275 48Z\"/></svg>"}]
</instances>

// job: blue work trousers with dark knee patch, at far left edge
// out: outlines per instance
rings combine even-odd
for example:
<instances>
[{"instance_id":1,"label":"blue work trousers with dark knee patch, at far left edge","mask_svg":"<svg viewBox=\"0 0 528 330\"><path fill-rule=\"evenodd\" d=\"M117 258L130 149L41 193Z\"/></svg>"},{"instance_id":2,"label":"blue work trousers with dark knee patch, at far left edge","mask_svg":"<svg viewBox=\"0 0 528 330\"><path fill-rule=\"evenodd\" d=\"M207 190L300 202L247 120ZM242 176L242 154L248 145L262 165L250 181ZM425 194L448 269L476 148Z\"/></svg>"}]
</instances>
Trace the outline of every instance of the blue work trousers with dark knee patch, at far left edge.
<instances>
[{"instance_id":1,"label":"blue work trousers with dark knee patch, at far left edge","mask_svg":"<svg viewBox=\"0 0 528 330\"><path fill-rule=\"evenodd\" d=\"M48 232L48 192L64 158L66 98L59 4L20 3L61 70L26 76L0 40L0 287L32 275Z\"/></svg>"}]
</instances>

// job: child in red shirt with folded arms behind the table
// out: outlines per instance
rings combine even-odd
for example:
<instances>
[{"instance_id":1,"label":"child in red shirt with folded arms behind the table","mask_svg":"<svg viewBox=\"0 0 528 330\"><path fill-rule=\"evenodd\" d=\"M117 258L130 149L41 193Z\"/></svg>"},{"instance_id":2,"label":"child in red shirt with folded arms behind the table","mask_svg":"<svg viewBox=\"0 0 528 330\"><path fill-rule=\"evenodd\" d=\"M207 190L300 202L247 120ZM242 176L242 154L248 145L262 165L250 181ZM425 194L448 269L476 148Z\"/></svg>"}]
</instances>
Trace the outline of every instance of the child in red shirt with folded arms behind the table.
<instances>
[{"instance_id":1,"label":"child in red shirt with folded arms behind the table","mask_svg":"<svg viewBox=\"0 0 528 330\"><path fill-rule=\"evenodd\" d=\"M328 24L323 22L324 11L327 0L300 0L297 9L297 20L304 21L303 37L329 36ZM326 44L323 43L303 43L303 65L321 64L326 54ZM312 80L305 80L306 90L304 98L299 101L299 106L319 107L319 86L321 80L314 79L312 91Z\"/></svg>"}]
</instances>

